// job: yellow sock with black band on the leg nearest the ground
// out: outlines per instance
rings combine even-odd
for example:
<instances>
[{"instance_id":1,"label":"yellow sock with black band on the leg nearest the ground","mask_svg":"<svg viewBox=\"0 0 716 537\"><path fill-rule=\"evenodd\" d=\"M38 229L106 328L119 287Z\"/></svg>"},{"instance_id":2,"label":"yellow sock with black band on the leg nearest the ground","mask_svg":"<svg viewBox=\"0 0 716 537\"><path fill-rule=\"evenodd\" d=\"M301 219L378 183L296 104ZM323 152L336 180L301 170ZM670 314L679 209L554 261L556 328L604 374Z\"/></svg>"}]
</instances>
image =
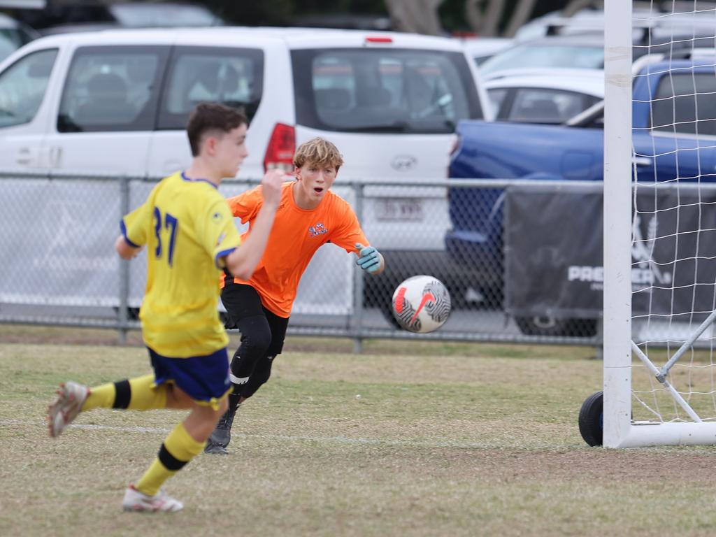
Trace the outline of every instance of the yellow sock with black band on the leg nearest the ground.
<instances>
[{"instance_id":1,"label":"yellow sock with black band on the leg nearest the ground","mask_svg":"<svg viewBox=\"0 0 716 537\"><path fill-rule=\"evenodd\" d=\"M204 450L206 442L194 440L180 423L166 437L157 458L147 469L135 488L150 496L159 492L162 484Z\"/></svg>"}]
</instances>

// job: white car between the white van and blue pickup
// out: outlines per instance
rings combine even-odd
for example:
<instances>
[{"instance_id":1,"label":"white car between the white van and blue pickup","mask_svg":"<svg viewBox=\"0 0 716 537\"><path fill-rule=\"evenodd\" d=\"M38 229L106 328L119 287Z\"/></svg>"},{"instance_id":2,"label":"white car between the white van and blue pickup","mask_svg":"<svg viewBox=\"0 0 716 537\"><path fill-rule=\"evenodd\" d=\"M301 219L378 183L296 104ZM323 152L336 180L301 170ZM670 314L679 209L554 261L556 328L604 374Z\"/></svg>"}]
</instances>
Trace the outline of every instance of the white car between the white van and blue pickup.
<instances>
[{"instance_id":1,"label":"white car between the white van and blue pickup","mask_svg":"<svg viewBox=\"0 0 716 537\"><path fill-rule=\"evenodd\" d=\"M498 121L561 124L604 99L599 69L524 69L483 85Z\"/></svg>"}]
</instances>

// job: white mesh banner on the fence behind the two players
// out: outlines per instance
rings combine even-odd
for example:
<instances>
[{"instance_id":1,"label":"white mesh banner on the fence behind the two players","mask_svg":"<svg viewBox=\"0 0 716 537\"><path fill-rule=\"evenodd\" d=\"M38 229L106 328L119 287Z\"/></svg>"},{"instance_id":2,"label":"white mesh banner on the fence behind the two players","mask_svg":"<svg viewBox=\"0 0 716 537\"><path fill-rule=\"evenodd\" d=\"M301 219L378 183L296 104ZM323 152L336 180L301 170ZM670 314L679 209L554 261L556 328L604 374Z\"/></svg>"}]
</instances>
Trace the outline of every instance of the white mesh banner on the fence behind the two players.
<instances>
[{"instance_id":1,"label":"white mesh banner on the fence behind the two players","mask_svg":"<svg viewBox=\"0 0 716 537\"><path fill-rule=\"evenodd\" d=\"M142 203L153 185L130 183L130 208ZM243 190L245 185L221 188L227 196ZM352 201L349 188L338 193ZM115 180L4 180L1 196L0 302L119 306L121 261L114 243L121 215ZM301 281L294 313L350 314L353 257L330 244L321 247ZM145 253L130 267L128 299L136 307L144 294Z\"/></svg>"}]
</instances>

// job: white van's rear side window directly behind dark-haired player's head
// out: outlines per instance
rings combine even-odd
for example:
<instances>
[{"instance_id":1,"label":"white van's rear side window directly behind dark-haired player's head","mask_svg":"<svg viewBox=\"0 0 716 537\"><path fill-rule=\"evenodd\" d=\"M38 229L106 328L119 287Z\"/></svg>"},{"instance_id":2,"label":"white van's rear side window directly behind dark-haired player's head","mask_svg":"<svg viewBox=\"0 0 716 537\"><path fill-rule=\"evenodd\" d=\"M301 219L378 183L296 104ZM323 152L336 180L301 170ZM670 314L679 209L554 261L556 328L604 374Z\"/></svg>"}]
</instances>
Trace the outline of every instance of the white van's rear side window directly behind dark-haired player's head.
<instances>
[{"instance_id":1,"label":"white van's rear side window directly behind dark-haired player's head","mask_svg":"<svg viewBox=\"0 0 716 537\"><path fill-rule=\"evenodd\" d=\"M263 51L176 47L162 96L158 128L184 129L202 101L241 107L251 121L263 94Z\"/></svg>"}]
</instances>

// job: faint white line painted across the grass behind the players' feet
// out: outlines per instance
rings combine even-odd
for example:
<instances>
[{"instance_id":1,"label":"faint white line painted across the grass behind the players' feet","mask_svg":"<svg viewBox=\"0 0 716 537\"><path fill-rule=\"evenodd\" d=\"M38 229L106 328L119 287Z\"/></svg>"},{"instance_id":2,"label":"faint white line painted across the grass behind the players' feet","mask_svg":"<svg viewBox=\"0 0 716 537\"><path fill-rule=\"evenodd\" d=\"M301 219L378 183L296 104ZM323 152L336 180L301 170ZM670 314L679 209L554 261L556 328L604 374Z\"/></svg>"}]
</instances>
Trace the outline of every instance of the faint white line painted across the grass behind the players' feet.
<instances>
[{"instance_id":1,"label":"faint white line painted across the grass behind the players' feet","mask_svg":"<svg viewBox=\"0 0 716 537\"><path fill-rule=\"evenodd\" d=\"M0 427L47 427L44 421L28 422L23 420L0 420ZM167 435L171 429L163 427L115 427L113 425L82 425L74 423L69 425L72 429L85 430L106 430L112 432L156 432ZM299 442L334 442L339 444L374 444L374 445L396 445L413 448L486 448L487 445L477 442L430 442L426 440L381 440L379 438L350 438L343 436L298 436L298 435L247 435L241 432L232 432L232 437L260 438L261 440L276 441L299 441Z\"/></svg>"}]
</instances>

